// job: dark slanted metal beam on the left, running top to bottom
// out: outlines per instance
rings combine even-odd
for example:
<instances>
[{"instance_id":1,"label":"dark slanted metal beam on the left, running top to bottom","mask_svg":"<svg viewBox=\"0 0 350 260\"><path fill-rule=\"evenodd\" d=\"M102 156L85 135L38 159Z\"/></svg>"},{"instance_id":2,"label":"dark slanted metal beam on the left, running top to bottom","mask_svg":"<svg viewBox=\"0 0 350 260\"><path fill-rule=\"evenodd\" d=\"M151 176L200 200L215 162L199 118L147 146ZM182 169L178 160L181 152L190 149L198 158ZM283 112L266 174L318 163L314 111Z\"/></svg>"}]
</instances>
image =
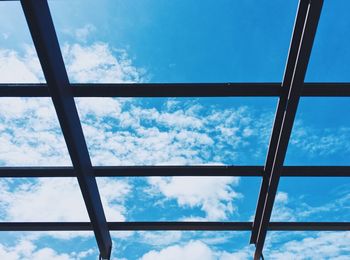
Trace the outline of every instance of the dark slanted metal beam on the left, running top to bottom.
<instances>
[{"instance_id":1,"label":"dark slanted metal beam on the left, running top to bottom","mask_svg":"<svg viewBox=\"0 0 350 260\"><path fill-rule=\"evenodd\" d=\"M46 0L21 0L21 4L77 174L100 257L109 259L112 240L48 3Z\"/></svg>"}]
</instances>

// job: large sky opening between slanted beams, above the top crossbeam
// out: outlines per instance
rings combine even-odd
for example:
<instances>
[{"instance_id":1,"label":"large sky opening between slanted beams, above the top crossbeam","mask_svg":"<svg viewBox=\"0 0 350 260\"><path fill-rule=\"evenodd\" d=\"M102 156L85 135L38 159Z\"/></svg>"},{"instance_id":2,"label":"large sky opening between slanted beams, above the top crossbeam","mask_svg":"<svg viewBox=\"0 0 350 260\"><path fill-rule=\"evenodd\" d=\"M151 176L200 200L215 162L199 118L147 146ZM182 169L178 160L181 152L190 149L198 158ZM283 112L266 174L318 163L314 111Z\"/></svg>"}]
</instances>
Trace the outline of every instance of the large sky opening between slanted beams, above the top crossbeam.
<instances>
[{"instance_id":1,"label":"large sky opening between slanted beams, above the top crossbeam","mask_svg":"<svg viewBox=\"0 0 350 260\"><path fill-rule=\"evenodd\" d=\"M72 82L283 77L298 1L51 1Z\"/></svg>"}]
</instances>

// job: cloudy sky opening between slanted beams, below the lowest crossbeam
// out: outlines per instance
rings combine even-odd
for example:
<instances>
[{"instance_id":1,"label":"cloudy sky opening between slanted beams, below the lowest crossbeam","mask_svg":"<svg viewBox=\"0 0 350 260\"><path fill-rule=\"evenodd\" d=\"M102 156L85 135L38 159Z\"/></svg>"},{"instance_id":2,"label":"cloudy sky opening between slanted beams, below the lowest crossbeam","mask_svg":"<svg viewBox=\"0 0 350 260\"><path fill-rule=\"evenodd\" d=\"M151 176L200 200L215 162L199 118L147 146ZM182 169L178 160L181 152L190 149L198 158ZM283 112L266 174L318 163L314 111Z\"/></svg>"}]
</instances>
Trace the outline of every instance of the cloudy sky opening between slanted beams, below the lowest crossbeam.
<instances>
[{"instance_id":1,"label":"cloudy sky opening between slanted beams, below the lowest crossbeam","mask_svg":"<svg viewBox=\"0 0 350 260\"><path fill-rule=\"evenodd\" d=\"M252 259L250 232L111 232L117 259Z\"/></svg>"}]
</instances>

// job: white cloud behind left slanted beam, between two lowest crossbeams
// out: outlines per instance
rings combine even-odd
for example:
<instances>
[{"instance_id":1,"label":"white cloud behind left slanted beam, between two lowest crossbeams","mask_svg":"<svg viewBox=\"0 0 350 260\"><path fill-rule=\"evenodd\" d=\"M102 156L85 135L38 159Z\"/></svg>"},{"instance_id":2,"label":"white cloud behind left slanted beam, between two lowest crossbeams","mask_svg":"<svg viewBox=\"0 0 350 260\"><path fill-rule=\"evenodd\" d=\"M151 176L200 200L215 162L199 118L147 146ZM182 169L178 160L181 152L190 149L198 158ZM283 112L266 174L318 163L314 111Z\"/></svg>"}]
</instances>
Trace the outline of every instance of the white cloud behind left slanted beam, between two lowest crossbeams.
<instances>
[{"instance_id":1,"label":"white cloud behind left slanted beam, between two lowest crossbeams","mask_svg":"<svg viewBox=\"0 0 350 260\"><path fill-rule=\"evenodd\" d=\"M99 179L98 184L107 218L124 221L124 200L130 192L129 184L110 179ZM0 185L4 220L89 221L75 178L2 179Z\"/></svg>"}]
</instances>

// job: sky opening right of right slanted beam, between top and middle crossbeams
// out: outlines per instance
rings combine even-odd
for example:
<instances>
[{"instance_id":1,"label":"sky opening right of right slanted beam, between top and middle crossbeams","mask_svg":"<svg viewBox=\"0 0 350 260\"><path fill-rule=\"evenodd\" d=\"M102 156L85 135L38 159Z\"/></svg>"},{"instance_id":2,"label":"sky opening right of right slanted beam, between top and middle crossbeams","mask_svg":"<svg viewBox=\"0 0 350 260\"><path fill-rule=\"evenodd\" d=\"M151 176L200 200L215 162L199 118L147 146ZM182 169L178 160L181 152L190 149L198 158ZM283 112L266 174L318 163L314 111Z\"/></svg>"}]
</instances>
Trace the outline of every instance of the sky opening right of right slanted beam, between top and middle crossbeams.
<instances>
[{"instance_id":1,"label":"sky opening right of right slanted beam, between top and middle crossbeams","mask_svg":"<svg viewBox=\"0 0 350 260\"><path fill-rule=\"evenodd\" d=\"M300 100L287 165L349 165L350 98Z\"/></svg>"}]
</instances>

